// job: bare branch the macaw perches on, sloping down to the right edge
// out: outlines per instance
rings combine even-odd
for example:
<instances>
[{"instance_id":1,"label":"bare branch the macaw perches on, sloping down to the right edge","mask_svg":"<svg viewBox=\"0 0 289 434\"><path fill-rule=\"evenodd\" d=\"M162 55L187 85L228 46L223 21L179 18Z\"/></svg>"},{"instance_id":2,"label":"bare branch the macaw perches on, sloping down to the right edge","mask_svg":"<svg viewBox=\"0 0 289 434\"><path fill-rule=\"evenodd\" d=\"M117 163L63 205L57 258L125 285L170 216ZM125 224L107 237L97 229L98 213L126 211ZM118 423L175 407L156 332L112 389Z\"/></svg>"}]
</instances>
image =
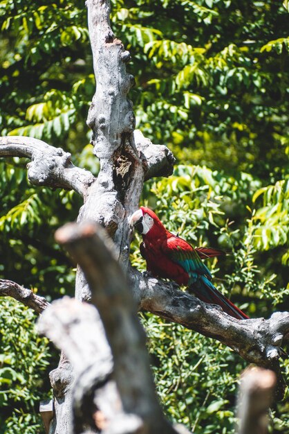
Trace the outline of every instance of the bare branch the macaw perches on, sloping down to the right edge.
<instances>
[{"instance_id":1,"label":"bare branch the macaw perches on, sloping down to the right edge","mask_svg":"<svg viewBox=\"0 0 289 434\"><path fill-rule=\"evenodd\" d=\"M279 372L279 358L282 342L289 339L289 312L273 313L268 320L236 320L220 307L203 303L176 289L176 285L144 277L133 268L129 278L139 309L217 339L246 361L272 369L278 376L277 397L283 397L285 385Z\"/></svg>"}]
</instances>

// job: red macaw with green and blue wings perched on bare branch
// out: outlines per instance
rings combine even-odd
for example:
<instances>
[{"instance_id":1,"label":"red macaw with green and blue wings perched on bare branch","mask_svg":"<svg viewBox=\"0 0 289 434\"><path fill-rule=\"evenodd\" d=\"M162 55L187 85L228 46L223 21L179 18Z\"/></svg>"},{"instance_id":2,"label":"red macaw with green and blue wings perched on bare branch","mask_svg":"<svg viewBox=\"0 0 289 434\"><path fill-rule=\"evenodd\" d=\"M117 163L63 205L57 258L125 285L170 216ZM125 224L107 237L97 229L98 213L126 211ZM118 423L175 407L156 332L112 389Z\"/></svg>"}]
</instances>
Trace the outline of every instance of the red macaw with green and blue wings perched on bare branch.
<instances>
[{"instance_id":1,"label":"red macaw with green and blue wings perched on bare branch","mask_svg":"<svg viewBox=\"0 0 289 434\"><path fill-rule=\"evenodd\" d=\"M140 207L129 219L131 228L142 234L140 253L147 261L147 271L185 285L206 303L218 304L223 311L238 320L249 317L218 291L211 282L212 275L201 259L224 254L212 248L193 248L178 235L165 229L151 209Z\"/></svg>"}]
</instances>

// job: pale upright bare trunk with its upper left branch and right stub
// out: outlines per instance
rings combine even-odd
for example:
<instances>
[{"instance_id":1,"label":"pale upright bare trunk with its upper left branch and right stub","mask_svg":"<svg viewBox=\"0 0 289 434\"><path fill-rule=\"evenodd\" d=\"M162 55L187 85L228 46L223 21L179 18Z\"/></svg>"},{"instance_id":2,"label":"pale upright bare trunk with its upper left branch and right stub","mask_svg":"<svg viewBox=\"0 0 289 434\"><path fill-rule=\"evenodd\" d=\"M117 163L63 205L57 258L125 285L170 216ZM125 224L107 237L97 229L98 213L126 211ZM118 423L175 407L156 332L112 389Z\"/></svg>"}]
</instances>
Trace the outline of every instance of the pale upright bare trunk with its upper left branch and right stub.
<instances>
[{"instance_id":1,"label":"pale upright bare trunk with its upper left branch and right stub","mask_svg":"<svg viewBox=\"0 0 289 434\"><path fill-rule=\"evenodd\" d=\"M133 77L126 72L129 53L124 51L109 26L109 1L88 0L88 27L91 36L93 67L97 88L88 114L95 155L100 159L100 173L75 168L70 155L61 149L27 137L0 139L0 155L31 159L30 182L74 189L84 198L78 220L91 219L106 227L115 242L118 259L124 268L129 263L131 232L128 217L138 207L145 176L169 175L174 157L165 146L156 148L142 134L138 148L134 141L135 120L127 94ZM78 268L75 297L90 300L91 293L82 270ZM71 433L69 394L72 371L62 358L50 373L55 392L55 421L50 432Z\"/></svg>"}]
</instances>

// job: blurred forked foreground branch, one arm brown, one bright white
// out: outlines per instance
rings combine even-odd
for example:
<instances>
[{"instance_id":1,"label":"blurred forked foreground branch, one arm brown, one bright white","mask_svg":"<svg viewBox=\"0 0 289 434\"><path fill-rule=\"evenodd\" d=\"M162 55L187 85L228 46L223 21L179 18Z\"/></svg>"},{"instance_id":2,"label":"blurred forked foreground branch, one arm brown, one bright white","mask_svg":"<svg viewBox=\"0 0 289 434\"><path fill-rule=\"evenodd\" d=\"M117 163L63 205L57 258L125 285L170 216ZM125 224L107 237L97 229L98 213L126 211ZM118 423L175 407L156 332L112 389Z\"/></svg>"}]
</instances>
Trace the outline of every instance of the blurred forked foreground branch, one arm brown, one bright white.
<instances>
[{"instance_id":1,"label":"blurred forked foreground branch, one arm brown, one bright white","mask_svg":"<svg viewBox=\"0 0 289 434\"><path fill-rule=\"evenodd\" d=\"M176 434L158 403L145 333L111 240L95 223L66 225L56 238L82 267L111 347L111 353L107 345L104 351L97 349L104 333L97 311L87 304L64 299L39 320L41 333L63 349L75 367L75 433L82 432L83 420L95 426L101 394L106 433L116 433L117 424L120 434ZM104 410L105 403L113 410Z\"/></svg>"}]
</instances>

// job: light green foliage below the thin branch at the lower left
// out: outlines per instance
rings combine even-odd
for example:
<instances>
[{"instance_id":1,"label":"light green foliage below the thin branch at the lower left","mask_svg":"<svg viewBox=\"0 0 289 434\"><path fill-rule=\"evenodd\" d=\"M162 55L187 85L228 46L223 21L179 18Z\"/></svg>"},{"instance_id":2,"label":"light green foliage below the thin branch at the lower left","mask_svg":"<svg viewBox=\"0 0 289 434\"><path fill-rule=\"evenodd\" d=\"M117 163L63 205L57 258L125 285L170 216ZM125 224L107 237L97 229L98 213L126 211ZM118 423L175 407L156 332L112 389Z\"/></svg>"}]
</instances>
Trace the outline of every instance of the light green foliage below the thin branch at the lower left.
<instances>
[{"instance_id":1,"label":"light green foliage below the thin branch at the lower left","mask_svg":"<svg viewBox=\"0 0 289 434\"><path fill-rule=\"evenodd\" d=\"M42 429L39 400L48 397L48 339L35 331L36 315L19 302L0 299L0 433Z\"/></svg>"}]
</instances>

